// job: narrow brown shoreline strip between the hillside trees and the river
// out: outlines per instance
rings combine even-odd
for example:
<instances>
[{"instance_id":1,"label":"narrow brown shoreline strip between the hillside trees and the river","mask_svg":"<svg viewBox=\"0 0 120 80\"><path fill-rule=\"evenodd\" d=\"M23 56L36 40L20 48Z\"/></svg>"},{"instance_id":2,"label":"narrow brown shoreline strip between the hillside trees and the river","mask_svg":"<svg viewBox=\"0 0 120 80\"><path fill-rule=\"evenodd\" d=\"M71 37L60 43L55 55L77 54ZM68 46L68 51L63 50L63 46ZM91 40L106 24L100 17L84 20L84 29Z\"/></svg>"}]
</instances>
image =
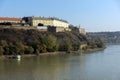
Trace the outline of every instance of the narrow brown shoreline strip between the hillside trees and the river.
<instances>
[{"instance_id":1,"label":"narrow brown shoreline strip between the hillside trees and the river","mask_svg":"<svg viewBox=\"0 0 120 80\"><path fill-rule=\"evenodd\" d=\"M82 51L83 54L89 54L92 52L96 52L96 51L102 51L105 48L95 48L95 49L87 49L85 51ZM66 51L58 51L58 52L47 52L47 53L40 53L38 55L36 54L24 54L21 55L22 58L26 58L26 57L34 57L34 56L43 56L43 55L56 55L56 54L81 54L81 51L70 51L70 52L66 52ZM0 56L0 60L1 59L7 59L9 57L12 57L13 55L2 55Z\"/></svg>"}]
</instances>

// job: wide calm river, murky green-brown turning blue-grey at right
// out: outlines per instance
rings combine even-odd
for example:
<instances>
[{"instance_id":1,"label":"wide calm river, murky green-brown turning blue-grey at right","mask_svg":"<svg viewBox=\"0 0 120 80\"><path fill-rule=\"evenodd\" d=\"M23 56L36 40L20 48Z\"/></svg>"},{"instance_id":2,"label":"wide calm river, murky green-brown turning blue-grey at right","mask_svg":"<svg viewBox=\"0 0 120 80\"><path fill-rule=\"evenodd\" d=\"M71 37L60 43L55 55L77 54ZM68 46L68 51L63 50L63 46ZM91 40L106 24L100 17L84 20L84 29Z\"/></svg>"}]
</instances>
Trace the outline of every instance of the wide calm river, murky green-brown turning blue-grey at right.
<instances>
[{"instance_id":1,"label":"wide calm river, murky green-brown turning blue-grey at right","mask_svg":"<svg viewBox=\"0 0 120 80\"><path fill-rule=\"evenodd\" d=\"M120 80L120 45L84 55L0 60L0 80Z\"/></svg>"}]
</instances>

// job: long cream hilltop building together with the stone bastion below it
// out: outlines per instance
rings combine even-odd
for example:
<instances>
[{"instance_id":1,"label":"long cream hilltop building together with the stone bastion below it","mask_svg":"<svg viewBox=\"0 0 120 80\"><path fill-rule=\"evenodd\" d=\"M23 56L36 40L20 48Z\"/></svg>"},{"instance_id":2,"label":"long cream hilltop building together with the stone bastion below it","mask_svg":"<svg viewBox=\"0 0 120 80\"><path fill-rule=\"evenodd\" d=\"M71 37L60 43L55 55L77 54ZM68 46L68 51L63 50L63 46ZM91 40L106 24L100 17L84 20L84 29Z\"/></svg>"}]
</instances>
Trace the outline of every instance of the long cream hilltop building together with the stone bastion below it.
<instances>
[{"instance_id":1,"label":"long cream hilltop building together with the stone bastion below it","mask_svg":"<svg viewBox=\"0 0 120 80\"><path fill-rule=\"evenodd\" d=\"M61 20L53 17L23 17L22 20L26 24L36 27L36 26L45 26L49 31L62 32L70 31L69 23L65 20Z\"/></svg>"}]
</instances>

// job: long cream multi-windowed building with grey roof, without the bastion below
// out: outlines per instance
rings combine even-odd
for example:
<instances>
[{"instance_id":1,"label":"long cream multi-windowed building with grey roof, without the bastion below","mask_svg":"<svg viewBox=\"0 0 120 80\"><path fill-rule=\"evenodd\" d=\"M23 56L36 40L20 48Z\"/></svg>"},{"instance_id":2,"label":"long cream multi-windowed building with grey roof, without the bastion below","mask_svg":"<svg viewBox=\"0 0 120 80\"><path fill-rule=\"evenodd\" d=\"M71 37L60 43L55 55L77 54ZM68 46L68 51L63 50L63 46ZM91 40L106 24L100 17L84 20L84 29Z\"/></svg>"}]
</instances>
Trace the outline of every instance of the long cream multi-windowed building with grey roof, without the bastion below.
<instances>
[{"instance_id":1,"label":"long cream multi-windowed building with grey roof, without the bastion below","mask_svg":"<svg viewBox=\"0 0 120 80\"><path fill-rule=\"evenodd\" d=\"M59 27L68 30L69 23L65 20L60 20L57 18L45 18L45 17L24 17L23 20L30 26L47 26L47 27Z\"/></svg>"}]
</instances>

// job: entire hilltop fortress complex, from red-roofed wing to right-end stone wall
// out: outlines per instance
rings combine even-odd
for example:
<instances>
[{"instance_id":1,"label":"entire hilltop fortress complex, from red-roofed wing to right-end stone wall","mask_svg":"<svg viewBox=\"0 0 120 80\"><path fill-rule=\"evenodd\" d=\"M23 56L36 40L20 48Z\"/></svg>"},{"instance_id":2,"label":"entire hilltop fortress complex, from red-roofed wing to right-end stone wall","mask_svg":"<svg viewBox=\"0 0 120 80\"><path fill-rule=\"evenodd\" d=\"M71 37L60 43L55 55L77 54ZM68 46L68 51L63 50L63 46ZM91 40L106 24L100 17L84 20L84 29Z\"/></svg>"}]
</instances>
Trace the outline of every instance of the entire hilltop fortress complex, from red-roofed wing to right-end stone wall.
<instances>
[{"instance_id":1,"label":"entire hilltop fortress complex, from red-roofed wing to right-end stone wall","mask_svg":"<svg viewBox=\"0 0 120 80\"><path fill-rule=\"evenodd\" d=\"M2 26L22 26L22 28L29 27L28 29L40 27L39 30L51 31L51 32L64 32L72 31L69 27L69 23L65 20L54 18L54 17L23 17L23 18L8 18L0 17L0 25ZM45 29L45 30L44 30ZM77 28L74 29L77 32L86 35L85 29Z\"/></svg>"}]
</instances>

